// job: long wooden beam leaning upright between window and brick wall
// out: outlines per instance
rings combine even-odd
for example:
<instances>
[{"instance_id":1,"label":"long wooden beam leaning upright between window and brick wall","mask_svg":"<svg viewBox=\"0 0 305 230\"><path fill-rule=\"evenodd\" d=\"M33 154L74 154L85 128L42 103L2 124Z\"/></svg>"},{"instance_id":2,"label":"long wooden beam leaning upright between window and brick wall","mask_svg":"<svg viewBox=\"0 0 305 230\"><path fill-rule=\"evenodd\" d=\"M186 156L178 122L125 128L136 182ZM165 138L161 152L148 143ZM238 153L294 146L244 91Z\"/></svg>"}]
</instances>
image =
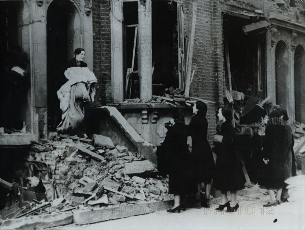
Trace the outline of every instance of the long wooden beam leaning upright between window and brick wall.
<instances>
[{"instance_id":1,"label":"long wooden beam leaning upright between window and brick wall","mask_svg":"<svg viewBox=\"0 0 305 230\"><path fill-rule=\"evenodd\" d=\"M193 12L192 12L192 26L191 26L191 35L189 41L189 50L188 50L188 64L187 64L187 78L185 85L185 96L189 97L190 87L191 87L191 77L192 77L192 62L193 62L193 50L194 50L194 40L195 40L195 29L196 29L196 17L197 17L197 3L193 2Z\"/></svg>"}]
</instances>

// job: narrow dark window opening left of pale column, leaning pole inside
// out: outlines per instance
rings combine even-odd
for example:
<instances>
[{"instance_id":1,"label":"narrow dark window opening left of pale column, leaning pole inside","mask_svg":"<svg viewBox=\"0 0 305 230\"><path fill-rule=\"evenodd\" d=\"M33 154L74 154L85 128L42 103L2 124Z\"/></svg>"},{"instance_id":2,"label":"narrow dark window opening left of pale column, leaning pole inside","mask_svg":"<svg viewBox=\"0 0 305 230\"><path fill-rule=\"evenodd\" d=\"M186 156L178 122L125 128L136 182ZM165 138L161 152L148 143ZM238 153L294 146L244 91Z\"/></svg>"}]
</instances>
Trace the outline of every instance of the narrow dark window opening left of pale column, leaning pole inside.
<instances>
[{"instance_id":1,"label":"narrow dark window opening left of pale column, leaning pole inside","mask_svg":"<svg viewBox=\"0 0 305 230\"><path fill-rule=\"evenodd\" d=\"M139 72L138 72L138 2L123 3L124 9L124 73L125 98L138 98Z\"/></svg>"}]
</instances>

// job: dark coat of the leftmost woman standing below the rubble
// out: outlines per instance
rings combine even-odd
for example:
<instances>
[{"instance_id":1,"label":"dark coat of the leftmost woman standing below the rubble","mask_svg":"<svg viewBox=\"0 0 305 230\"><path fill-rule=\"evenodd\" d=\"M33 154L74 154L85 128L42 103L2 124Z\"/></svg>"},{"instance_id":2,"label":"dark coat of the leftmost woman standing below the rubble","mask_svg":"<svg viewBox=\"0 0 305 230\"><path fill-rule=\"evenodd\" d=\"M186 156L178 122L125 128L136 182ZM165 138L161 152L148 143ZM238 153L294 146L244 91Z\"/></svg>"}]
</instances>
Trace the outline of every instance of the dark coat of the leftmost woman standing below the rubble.
<instances>
[{"instance_id":1,"label":"dark coat of the leftmost woman standing below the rubble","mask_svg":"<svg viewBox=\"0 0 305 230\"><path fill-rule=\"evenodd\" d=\"M169 193L184 195L196 192L197 185L192 183L193 168L191 153L187 145L188 126L175 123L162 143L163 151L169 154Z\"/></svg>"}]
</instances>

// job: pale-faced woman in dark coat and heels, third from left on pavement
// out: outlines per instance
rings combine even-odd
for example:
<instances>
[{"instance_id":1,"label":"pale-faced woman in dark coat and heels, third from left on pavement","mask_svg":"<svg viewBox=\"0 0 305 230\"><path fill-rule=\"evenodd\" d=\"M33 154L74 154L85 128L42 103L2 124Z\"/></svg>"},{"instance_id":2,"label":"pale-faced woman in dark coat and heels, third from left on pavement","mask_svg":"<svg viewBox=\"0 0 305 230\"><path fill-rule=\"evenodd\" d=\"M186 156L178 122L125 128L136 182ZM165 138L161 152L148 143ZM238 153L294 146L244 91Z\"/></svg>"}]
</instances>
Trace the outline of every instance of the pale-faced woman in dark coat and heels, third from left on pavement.
<instances>
[{"instance_id":1,"label":"pale-faced woman in dark coat and heels, third from left on pavement","mask_svg":"<svg viewBox=\"0 0 305 230\"><path fill-rule=\"evenodd\" d=\"M221 191L222 201L218 211L227 207L227 212L234 212L239 205L236 200L236 191L241 190L246 182L242 172L241 157L235 147L235 129L232 125L232 110L229 107L220 108L219 121L223 121L219 135L223 136L221 143L215 143L217 155L213 185ZM231 192L231 204L227 192Z\"/></svg>"}]
</instances>

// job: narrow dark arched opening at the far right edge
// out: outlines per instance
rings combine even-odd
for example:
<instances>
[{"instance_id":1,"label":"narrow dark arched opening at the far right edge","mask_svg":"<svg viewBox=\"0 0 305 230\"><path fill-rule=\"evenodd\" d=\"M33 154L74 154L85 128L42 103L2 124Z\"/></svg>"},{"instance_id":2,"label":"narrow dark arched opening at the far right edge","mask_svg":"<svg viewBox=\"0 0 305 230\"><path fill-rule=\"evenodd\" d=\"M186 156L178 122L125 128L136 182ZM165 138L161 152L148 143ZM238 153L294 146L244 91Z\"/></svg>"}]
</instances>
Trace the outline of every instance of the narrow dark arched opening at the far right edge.
<instances>
[{"instance_id":1,"label":"narrow dark arched opening at the far right edge","mask_svg":"<svg viewBox=\"0 0 305 230\"><path fill-rule=\"evenodd\" d=\"M295 120L305 124L305 50L298 45L294 54Z\"/></svg>"}]
</instances>

